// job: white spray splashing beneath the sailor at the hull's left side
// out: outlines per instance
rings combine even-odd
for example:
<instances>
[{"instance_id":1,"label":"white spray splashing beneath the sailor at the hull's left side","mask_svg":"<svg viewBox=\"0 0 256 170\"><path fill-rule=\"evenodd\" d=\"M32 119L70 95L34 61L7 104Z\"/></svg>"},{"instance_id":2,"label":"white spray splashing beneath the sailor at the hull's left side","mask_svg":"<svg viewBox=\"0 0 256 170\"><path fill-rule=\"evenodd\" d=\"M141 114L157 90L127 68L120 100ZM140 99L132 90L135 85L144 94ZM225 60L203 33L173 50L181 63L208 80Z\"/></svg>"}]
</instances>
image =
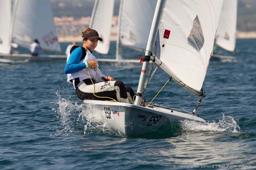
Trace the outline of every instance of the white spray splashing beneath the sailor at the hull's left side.
<instances>
[{"instance_id":1,"label":"white spray splashing beneath the sailor at the hull's left side","mask_svg":"<svg viewBox=\"0 0 256 170\"><path fill-rule=\"evenodd\" d=\"M83 126L84 134L88 133L109 133L106 123L102 121L100 112L95 110L93 104L78 104L72 102L71 99L65 99L61 97L59 91L56 92L59 97L57 102L57 119L61 122L61 128L57 129L56 135L62 133L68 135L74 131L78 131L76 124Z\"/></svg>"}]
</instances>

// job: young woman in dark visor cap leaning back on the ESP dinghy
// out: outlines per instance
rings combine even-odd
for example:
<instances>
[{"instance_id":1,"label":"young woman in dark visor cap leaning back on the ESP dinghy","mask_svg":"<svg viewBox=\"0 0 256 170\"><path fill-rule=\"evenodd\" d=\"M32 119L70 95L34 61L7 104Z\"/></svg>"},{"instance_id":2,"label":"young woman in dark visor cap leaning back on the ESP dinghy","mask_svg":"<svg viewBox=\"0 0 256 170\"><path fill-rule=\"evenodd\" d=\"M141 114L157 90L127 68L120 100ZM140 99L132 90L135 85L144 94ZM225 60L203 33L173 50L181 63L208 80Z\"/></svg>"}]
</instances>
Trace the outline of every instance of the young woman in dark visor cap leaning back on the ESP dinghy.
<instances>
[{"instance_id":1,"label":"young woman in dark visor cap leaning back on the ESP dinghy","mask_svg":"<svg viewBox=\"0 0 256 170\"><path fill-rule=\"evenodd\" d=\"M136 95L131 87L125 87L121 81L104 76L99 71L98 61L92 50L102 41L96 30L86 28L82 32L83 46L73 46L67 56L65 73L67 82L74 85L76 95L85 100L116 100L129 103Z\"/></svg>"}]
</instances>

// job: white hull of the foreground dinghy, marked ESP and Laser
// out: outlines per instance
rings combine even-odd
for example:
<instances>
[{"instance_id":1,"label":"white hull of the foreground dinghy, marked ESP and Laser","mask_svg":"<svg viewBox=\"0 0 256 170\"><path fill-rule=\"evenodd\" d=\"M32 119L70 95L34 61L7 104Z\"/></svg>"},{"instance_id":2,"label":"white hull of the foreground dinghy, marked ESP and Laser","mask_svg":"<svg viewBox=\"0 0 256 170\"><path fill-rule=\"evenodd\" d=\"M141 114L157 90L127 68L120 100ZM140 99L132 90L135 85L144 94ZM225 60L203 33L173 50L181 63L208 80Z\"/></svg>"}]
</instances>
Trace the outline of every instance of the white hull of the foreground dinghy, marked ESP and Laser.
<instances>
[{"instance_id":1,"label":"white hull of the foreground dinghy, marked ESP and Laser","mask_svg":"<svg viewBox=\"0 0 256 170\"><path fill-rule=\"evenodd\" d=\"M142 107L121 102L84 100L93 105L92 114L100 113L102 122L106 123L111 133L122 136L141 136L160 128L171 126L173 121L192 120L205 122L204 119L175 110L160 107Z\"/></svg>"}]
</instances>

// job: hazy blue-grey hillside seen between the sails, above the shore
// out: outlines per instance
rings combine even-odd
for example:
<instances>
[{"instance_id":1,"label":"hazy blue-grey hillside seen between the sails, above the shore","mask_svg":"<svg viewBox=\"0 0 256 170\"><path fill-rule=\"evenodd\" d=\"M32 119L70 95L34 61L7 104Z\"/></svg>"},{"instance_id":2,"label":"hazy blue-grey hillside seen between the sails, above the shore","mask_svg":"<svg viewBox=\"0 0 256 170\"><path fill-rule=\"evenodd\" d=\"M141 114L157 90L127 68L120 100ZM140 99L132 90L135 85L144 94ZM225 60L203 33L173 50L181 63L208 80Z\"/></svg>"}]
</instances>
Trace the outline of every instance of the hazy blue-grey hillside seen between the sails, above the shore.
<instances>
[{"instance_id":1,"label":"hazy blue-grey hillside seen between the sails, above the shore","mask_svg":"<svg viewBox=\"0 0 256 170\"><path fill-rule=\"evenodd\" d=\"M90 16L94 0L50 0L56 17ZM114 15L118 15L120 0L115 0ZM238 31L256 31L256 0L238 0Z\"/></svg>"}]
</instances>

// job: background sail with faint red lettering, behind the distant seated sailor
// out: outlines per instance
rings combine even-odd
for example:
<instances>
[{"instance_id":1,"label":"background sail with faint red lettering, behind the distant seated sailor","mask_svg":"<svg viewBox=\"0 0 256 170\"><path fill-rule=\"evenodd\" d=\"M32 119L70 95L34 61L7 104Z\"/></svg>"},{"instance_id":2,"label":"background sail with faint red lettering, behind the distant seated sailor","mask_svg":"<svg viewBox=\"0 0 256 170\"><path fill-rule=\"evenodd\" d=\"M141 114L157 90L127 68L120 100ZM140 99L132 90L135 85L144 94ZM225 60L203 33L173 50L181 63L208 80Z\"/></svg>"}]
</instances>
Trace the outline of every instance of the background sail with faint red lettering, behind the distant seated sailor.
<instances>
[{"instance_id":1,"label":"background sail with faint red lettering, behind the distant seated sailor","mask_svg":"<svg viewBox=\"0 0 256 170\"><path fill-rule=\"evenodd\" d=\"M16 0L12 41L29 48L33 39L48 51L61 51L49 0Z\"/></svg>"}]
</instances>

